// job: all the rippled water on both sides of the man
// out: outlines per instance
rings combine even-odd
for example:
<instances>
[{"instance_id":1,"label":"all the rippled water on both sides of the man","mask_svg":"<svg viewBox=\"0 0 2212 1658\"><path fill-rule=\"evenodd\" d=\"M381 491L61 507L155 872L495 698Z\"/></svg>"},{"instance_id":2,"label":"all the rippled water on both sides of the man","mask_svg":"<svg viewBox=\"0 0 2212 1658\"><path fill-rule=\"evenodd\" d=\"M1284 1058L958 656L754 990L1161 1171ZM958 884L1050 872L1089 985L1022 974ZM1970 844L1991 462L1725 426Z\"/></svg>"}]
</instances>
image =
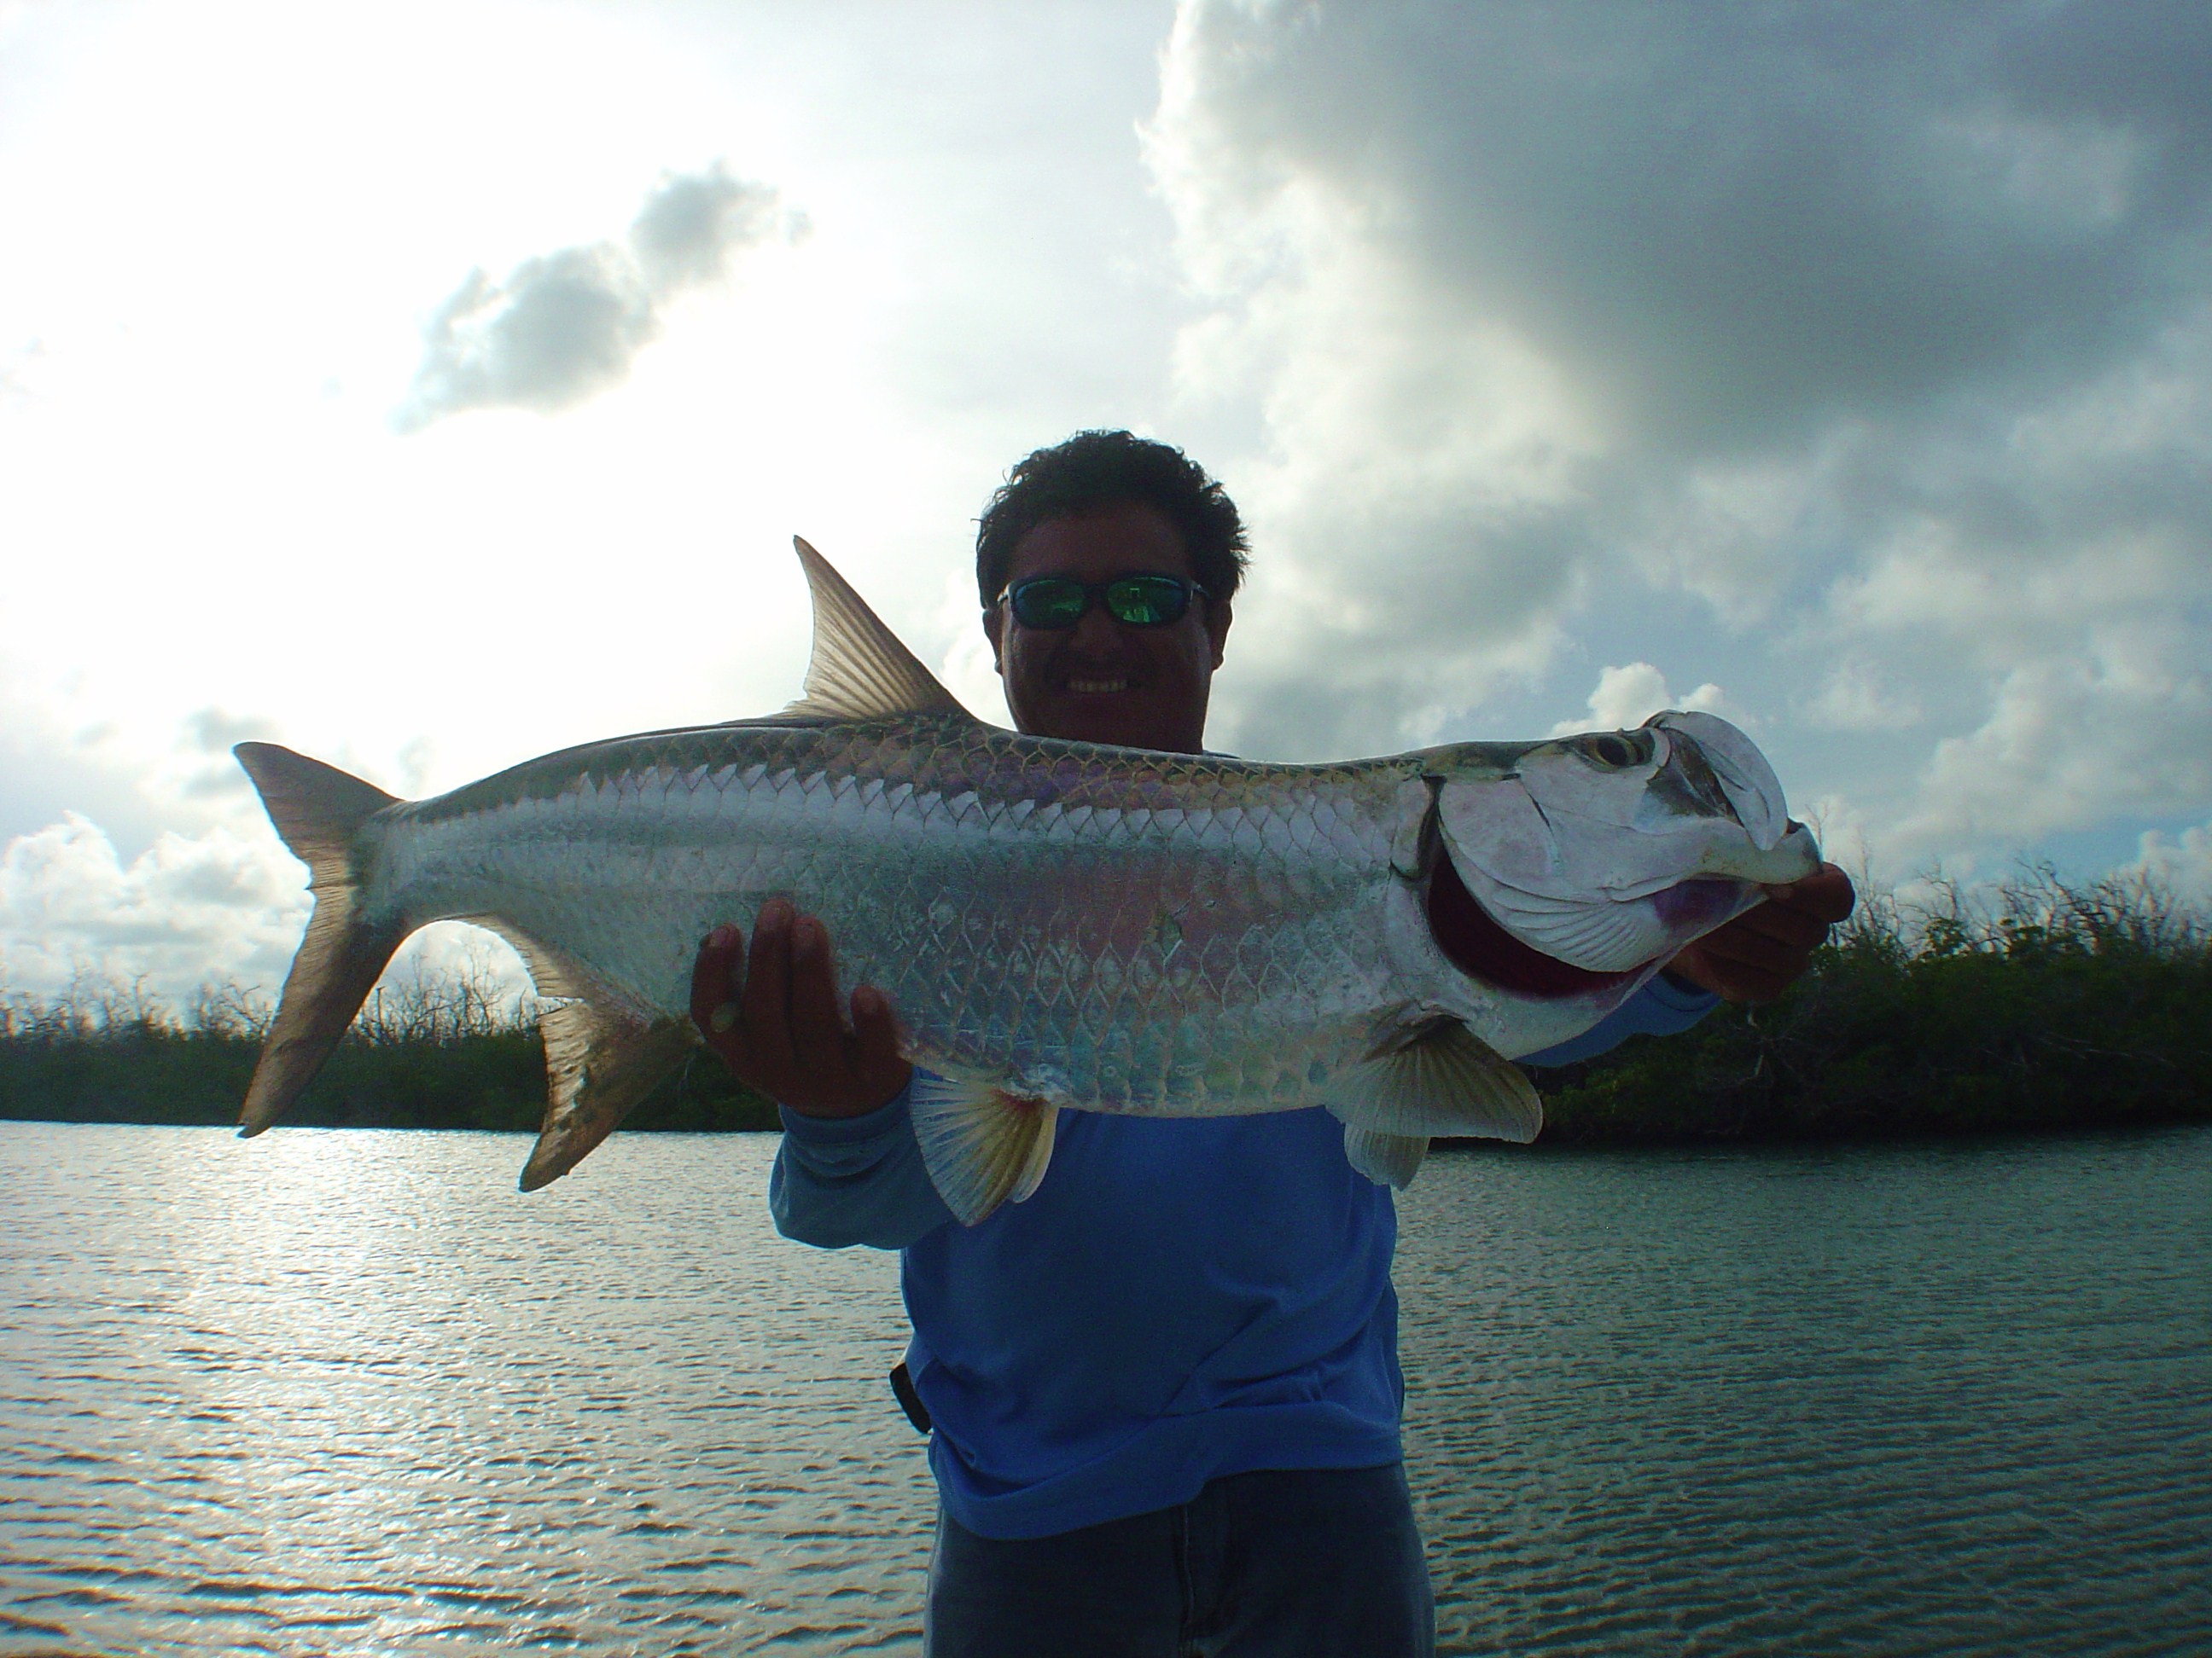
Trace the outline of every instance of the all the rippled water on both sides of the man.
<instances>
[{"instance_id":1,"label":"all the rippled water on both sides of the man","mask_svg":"<svg viewBox=\"0 0 2212 1658\"><path fill-rule=\"evenodd\" d=\"M0 1654L911 1654L894 1265L772 1150L0 1123ZM2212 1132L1402 1211L1444 1651L2212 1651Z\"/></svg>"}]
</instances>

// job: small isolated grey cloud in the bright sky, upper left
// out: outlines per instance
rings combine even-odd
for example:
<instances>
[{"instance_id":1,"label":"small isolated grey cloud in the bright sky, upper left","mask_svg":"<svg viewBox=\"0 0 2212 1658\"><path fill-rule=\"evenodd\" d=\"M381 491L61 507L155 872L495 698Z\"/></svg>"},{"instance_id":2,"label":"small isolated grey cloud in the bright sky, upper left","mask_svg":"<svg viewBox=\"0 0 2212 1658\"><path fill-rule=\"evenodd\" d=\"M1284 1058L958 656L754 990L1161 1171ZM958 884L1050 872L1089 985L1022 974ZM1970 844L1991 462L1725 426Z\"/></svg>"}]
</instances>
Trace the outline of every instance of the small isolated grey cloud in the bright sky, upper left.
<instances>
[{"instance_id":1,"label":"small isolated grey cloud in the bright sky, upper left","mask_svg":"<svg viewBox=\"0 0 2212 1658\"><path fill-rule=\"evenodd\" d=\"M471 270L422 329L422 360L394 413L400 431L465 409L571 409L622 385L668 303L721 281L743 248L803 230L776 192L732 177L668 175L624 241L524 259L507 281Z\"/></svg>"}]
</instances>

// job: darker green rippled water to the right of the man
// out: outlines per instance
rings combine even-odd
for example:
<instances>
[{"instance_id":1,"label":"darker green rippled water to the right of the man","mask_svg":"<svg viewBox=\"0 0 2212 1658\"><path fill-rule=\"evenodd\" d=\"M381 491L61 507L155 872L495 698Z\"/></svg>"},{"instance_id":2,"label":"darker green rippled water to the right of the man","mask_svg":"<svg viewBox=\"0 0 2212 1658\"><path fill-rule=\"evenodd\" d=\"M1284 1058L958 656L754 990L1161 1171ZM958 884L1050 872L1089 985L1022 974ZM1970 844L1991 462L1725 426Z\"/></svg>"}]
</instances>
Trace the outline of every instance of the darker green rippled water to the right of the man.
<instances>
[{"instance_id":1,"label":"darker green rippled water to the right of the man","mask_svg":"<svg viewBox=\"0 0 2212 1658\"><path fill-rule=\"evenodd\" d=\"M2212 1132L1429 1174L1447 1649L2212 1651Z\"/></svg>"}]
</instances>

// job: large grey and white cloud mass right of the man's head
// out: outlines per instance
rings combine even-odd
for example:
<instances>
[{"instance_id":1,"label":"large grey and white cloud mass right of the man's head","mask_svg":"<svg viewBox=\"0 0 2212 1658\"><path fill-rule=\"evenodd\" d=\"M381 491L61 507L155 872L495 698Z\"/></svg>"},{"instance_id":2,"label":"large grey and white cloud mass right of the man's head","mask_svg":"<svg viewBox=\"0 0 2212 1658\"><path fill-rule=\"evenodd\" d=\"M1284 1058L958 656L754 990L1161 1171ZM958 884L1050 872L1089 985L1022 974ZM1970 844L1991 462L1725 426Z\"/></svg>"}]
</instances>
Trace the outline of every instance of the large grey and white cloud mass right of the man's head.
<instances>
[{"instance_id":1,"label":"large grey and white cloud mass right of the man's head","mask_svg":"<svg viewBox=\"0 0 2212 1658\"><path fill-rule=\"evenodd\" d=\"M1464 730L1582 637L1593 721L1717 661L1887 860L2212 800L2199 69L2192 9L1186 0L1146 153L1186 407L1254 420L1239 734Z\"/></svg>"}]
</instances>

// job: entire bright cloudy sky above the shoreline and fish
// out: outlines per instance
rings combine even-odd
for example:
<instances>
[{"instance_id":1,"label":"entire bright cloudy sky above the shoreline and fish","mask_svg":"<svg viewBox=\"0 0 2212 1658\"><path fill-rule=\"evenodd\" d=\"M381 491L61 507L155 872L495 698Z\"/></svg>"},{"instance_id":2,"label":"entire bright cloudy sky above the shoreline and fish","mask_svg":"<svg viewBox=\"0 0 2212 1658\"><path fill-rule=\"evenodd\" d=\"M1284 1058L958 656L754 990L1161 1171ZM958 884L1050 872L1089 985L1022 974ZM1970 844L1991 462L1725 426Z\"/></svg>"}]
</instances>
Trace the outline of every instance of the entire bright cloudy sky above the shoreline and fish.
<instances>
[{"instance_id":1,"label":"entire bright cloudy sky above the shoreline and fish","mask_svg":"<svg viewBox=\"0 0 2212 1658\"><path fill-rule=\"evenodd\" d=\"M1210 738L1712 707L1847 862L2212 891L2201 4L0 0L0 988L274 984L228 745L403 794L1000 718L973 515L1252 524Z\"/></svg>"}]
</instances>

